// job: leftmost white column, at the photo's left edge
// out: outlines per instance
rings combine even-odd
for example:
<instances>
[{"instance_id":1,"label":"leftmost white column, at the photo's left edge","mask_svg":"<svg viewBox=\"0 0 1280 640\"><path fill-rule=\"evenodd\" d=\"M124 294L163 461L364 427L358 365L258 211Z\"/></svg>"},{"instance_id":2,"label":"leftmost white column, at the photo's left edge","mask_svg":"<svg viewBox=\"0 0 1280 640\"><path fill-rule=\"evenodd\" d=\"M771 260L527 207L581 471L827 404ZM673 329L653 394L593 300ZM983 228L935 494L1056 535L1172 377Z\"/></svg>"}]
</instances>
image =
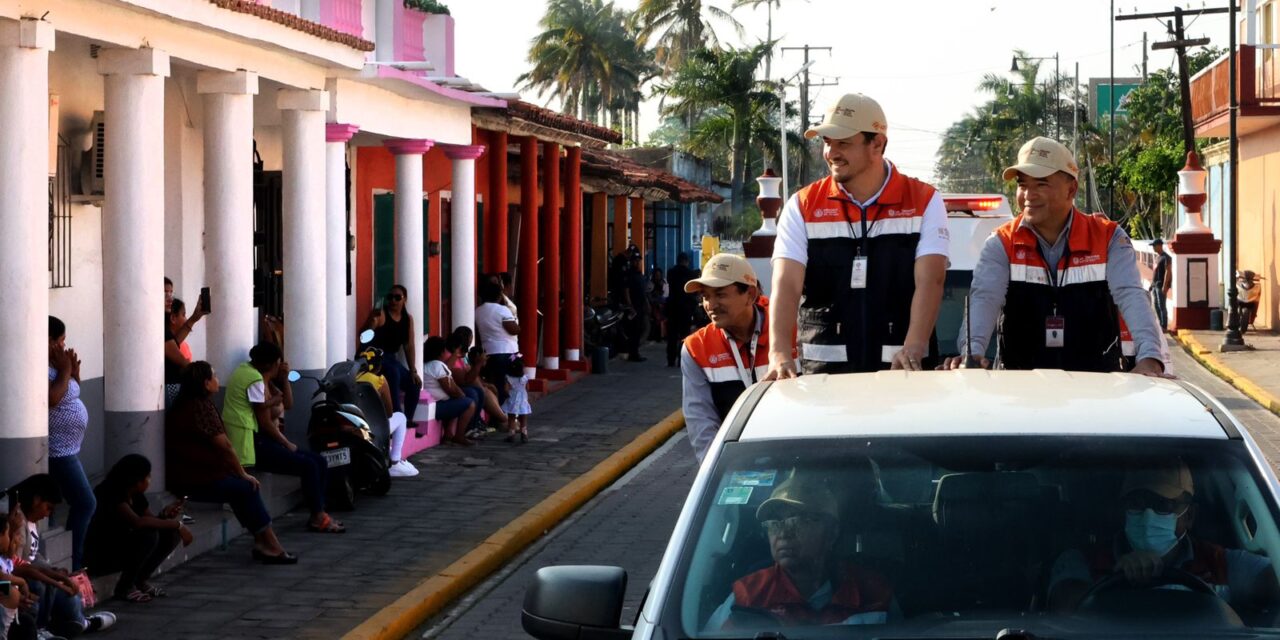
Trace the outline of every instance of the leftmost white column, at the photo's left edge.
<instances>
[{"instance_id":1,"label":"leftmost white column, at the photo's left edge","mask_svg":"<svg viewBox=\"0 0 1280 640\"><path fill-rule=\"evenodd\" d=\"M0 486L45 471L49 433L49 51L54 27L0 19ZM67 319L72 321L72 319Z\"/></svg>"}]
</instances>

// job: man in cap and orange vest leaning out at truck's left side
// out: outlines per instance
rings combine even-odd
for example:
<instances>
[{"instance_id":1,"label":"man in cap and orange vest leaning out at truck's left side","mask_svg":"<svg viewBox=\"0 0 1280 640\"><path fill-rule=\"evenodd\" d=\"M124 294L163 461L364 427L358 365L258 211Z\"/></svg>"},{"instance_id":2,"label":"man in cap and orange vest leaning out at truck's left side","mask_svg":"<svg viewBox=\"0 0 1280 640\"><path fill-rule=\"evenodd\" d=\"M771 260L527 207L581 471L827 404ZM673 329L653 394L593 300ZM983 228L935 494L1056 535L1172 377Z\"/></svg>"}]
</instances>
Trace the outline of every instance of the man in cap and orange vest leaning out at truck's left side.
<instances>
[{"instance_id":1,"label":"man in cap and orange vest leaning out at truck's left side","mask_svg":"<svg viewBox=\"0 0 1280 640\"><path fill-rule=\"evenodd\" d=\"M701 461L733 402L768 371L769 301L751 265L732 253L712 256L685 292L701 294L712 320L685 338L680 353L685 426Z\"/></svg>"}]
</instances>

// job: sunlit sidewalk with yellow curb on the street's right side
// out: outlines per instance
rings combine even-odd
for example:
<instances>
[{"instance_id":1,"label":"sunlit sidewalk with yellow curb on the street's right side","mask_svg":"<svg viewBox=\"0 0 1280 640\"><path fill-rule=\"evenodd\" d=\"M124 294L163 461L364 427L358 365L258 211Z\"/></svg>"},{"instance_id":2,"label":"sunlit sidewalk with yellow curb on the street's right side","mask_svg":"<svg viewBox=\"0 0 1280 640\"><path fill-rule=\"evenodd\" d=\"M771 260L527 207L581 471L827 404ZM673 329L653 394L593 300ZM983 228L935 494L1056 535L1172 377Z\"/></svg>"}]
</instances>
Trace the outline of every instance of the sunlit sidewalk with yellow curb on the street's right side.
<instances>
[{"instance_id":1,"label":"sunlit sidewalk with yellow curb on the street's right side","mask_svg":"<svg viewBox=\"0 0 1280 640\"><path fill-rule=\"evenodd\" d=\"M1180 330L1178 342L1206 369L1280 415L1280 335L1247 333L1249 351L1220 352L1222 332Z\"/></svg>"}]
</instances>

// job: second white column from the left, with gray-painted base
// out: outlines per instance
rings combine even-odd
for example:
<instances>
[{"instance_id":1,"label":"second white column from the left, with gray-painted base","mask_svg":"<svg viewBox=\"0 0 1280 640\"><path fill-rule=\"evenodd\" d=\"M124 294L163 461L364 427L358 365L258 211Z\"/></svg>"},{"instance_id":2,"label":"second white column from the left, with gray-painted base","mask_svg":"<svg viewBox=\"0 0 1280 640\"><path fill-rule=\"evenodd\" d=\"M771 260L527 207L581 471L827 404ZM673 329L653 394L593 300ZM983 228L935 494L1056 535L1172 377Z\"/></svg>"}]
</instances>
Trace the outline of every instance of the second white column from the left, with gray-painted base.
<instances>
[{"instance_id":1,"label":"second white column from the left, with gray-painted base","mask_svg":"<svg viewBox=\"0 0 1280 640\"><path fill-rule=\"evenodd\" d=\"M102 365L106 465L151 460L164 489L164 79L169 54L105 49Z\"/></svg>"}]
</instances>

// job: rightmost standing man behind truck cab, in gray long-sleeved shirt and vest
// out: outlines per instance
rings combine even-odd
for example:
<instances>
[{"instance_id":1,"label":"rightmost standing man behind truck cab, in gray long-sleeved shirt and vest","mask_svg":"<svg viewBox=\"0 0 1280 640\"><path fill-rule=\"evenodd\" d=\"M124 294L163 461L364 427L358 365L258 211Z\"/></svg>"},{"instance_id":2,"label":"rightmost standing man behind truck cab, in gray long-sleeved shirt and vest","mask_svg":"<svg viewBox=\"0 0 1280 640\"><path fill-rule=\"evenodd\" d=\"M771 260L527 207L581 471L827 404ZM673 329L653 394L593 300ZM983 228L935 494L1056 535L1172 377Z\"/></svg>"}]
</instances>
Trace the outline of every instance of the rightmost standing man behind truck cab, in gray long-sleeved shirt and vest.
<instances>
[{"instance_id":1,"label":"rightmost standing man behind truck cab, in gray long-sleeved shirt and vest","mask_svg":"<svg viewBox=\"0 0 1280 640\"><path fill-rule=\"evenodd\" d=\"M1018 180L1020 215L982 248L969 289L972 332L960 328L961 356L947 367L984 353L998 320L1005 369L1120 371L1119 307L1137 344L1133 372L1164 375L1165 342L1133 244L1116 223L1075 209L1078 173L1071 152L1044 137L1023 145L1005 169L1006 180Z\"/></svg>"}]
</instances>

